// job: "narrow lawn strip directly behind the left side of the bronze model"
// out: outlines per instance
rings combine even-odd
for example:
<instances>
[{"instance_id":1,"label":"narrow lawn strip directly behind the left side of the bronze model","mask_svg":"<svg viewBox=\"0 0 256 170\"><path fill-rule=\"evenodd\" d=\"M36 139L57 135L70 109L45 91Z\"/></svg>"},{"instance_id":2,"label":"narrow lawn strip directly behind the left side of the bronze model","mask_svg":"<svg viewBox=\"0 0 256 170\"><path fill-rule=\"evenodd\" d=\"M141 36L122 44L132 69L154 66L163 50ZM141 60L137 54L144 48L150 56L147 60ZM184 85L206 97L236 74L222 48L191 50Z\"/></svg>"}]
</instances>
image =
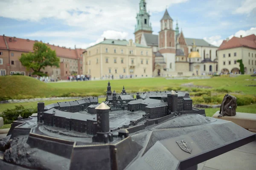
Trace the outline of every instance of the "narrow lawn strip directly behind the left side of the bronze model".
<instances>
[{"instance_id":1,"label":"narrow lawn strip directly behind the left side of the bronze model","mask_svg":"<svg viewBox=\"0 0 256 170\"><path fill-rule=\"evenodd\" d=\"M73 99L75 100L75 99ZM66 102L66 101L73 101L73 100L50 100L50 101L37 101L37 102L23 102L23 103L5 103L0 104L0 112L5 111L6 109L13 109L16 105L23 105L25 108L36 108L38 102L44 102L44 105L49 105L56 102ZM99 102L105 101L105 98L99 98Z\"/></svg>"}]
</instances>

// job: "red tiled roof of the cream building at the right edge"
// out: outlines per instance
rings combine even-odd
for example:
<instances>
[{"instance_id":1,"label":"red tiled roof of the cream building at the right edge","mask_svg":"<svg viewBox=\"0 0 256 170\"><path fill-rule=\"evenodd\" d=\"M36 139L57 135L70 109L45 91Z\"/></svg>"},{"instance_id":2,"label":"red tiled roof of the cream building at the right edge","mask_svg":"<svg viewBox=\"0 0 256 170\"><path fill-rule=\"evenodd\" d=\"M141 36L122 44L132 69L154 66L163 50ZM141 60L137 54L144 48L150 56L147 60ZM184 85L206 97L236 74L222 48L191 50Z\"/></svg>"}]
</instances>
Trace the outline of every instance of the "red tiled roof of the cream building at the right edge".
<instances>
[{"instance_id":1,"label":"red tiled roof of the cream building at the right edge","mask_svg":"<svg viewBox=\"0 0 256 170\"><path fill-rule=\"evenodd\" d=\"M238 38L233 37L231 40L226 41L224 40L218 50L224 50L229 48L237 48L237 47L248 47L248 48L255 48L256 49L256 36L249 35L247 37Z\"/></svg>"}]
</instances>

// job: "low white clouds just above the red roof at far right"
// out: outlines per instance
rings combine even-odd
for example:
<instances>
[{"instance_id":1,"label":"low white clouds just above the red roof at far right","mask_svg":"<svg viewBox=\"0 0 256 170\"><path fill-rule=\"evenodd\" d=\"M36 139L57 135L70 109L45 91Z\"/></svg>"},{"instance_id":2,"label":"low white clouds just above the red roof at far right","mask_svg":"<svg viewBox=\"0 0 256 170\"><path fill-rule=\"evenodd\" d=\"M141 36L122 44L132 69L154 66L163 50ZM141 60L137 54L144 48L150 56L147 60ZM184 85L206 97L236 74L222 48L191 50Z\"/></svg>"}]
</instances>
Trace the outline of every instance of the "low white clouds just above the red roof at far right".
<instances>
[{"instance_id":1,"label":"low white clouds just above the red roof at far right","mask_svg":"<svg viewBox=\"0 0 256 170\"><path fill-rule=\"evenodd\" d=\"M239 30L235 34L230 35L228 38L231 39L233 37L240 37L240 35L242 35L242 37L245 37L245 36L251 35L251 34L256 35L256 27L252 27L249 30ZM209 42L210 44L215 45L215 46L220 46L223 41L223 39L221 39L220 35L215 35L212 37L204 37L204 40L206 40L207 42Z\"/></svg>"}]
</instances>

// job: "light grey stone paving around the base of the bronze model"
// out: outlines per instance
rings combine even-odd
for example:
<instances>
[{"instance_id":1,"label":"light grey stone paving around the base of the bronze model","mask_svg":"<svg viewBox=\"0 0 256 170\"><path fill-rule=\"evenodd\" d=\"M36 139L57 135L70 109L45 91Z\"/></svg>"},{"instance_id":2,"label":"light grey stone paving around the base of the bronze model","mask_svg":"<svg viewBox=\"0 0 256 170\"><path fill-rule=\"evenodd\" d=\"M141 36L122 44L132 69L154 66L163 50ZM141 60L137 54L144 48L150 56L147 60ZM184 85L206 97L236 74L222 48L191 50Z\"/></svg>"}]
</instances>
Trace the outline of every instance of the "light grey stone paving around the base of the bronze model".
<instances>
[{"instance_id":1,"label":"light grey stone paving around the base of the bronze model","mask_svg":"<svg viewBox=\"0 0 256 170\"><path fill-rule=\"evenodd\" d=\"M0 138L6 134L0 134ZM198 164L198 170L255 170L256 141Z\"/></svg>"}]
</instances>

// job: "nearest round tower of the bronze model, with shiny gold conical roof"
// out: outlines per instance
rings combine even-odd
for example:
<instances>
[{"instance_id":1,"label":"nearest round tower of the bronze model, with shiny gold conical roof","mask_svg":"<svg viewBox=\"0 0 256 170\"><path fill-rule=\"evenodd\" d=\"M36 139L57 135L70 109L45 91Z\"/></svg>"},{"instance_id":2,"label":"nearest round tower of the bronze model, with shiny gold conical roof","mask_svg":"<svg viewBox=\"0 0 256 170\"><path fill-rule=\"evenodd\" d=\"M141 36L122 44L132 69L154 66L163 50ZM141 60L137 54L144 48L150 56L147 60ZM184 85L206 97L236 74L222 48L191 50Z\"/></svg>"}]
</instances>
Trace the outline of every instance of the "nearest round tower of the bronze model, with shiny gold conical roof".
<instances>
[{"instance_id":1,"label":"nearest round tower of the bronze model, with shiny gold conical roof","mask_svg":"<svg viewBox=\"0 0 256 170\"><path fill-rule=\"evenodd\" d=\"M97 133L93 136L93 142L108 143L113 141L113 134L109 128L109 110L110 107L102 102L95 108L97 113Z\"/></svg>"}]
</instances>

